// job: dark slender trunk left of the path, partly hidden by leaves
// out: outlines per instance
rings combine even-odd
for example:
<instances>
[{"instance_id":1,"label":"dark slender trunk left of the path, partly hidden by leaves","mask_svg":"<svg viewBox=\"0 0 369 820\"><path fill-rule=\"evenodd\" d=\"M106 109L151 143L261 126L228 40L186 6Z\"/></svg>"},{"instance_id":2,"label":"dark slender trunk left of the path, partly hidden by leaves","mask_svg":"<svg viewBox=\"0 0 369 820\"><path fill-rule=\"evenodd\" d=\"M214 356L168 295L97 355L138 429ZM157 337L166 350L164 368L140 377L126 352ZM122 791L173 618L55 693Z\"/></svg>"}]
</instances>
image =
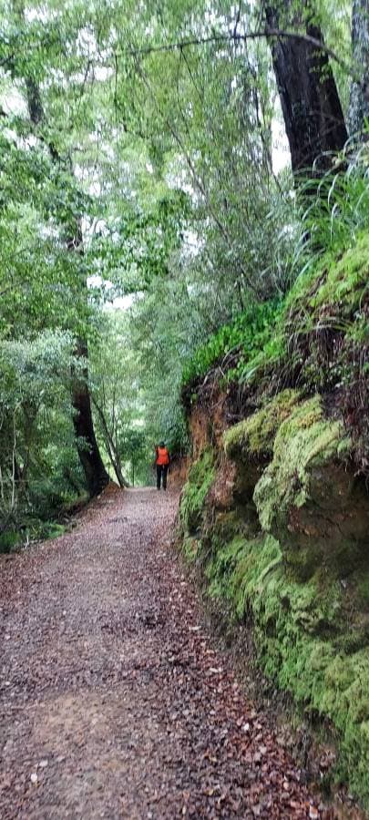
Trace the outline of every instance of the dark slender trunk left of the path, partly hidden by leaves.
<instances>
[{"instance_id":1,"label":"dark slender trunk left of the path, partly hidden by leaves","mask_svg":"<svg viewBox=\"0 0 369 820\"><path fill-rule=\"evenodd\" d=\"M38 125L45 119L45 114L39 87L33 77L26 77L26 95L29 117L34 125ZM52 141L47 142L47 147L51 158L55 162L59 161L60 157ZM67 239L67 249L70 252L81 252L82 248L81 224L80 219L77 217L74 235ZM82 287L85 288L87 292L86 282L83 282ZM83 357L87 362L87 343L83 340L78 340L75 354ZM88 493L92 497L101 492L101 490L107 486L110 479L97 446L88 389L87 366L84 368L82 378L78 378L75 374L72 379L72 406L78 456L85 473Z\"/></svg>"}]
</instances>

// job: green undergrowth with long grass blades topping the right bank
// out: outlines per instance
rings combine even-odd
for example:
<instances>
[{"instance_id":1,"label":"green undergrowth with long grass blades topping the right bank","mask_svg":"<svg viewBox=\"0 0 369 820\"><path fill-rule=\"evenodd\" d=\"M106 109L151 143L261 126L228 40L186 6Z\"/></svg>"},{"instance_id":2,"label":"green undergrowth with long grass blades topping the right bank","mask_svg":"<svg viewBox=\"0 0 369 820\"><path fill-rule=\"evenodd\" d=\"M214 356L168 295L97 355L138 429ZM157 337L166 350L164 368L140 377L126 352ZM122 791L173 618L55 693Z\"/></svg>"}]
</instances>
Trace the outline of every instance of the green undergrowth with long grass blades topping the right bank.
<instances>
[{"instance_id":1,"label":"green undergrowth with long grass blades topping the right bank","mask_svg":"<svg viewBox=\"0 0 369 820\"><path fill-rule=\"evenodd\" d=\"M223 384L257 384L269 395L340 389L342 414L354 411L357 437L369 434L358 419L369 402L368 155L368 144L349 143L333 158L339 172L302 182L290 291L252 303L200 347L183 370L185 401L211 370Z\"/></svg>"}]
</instances>

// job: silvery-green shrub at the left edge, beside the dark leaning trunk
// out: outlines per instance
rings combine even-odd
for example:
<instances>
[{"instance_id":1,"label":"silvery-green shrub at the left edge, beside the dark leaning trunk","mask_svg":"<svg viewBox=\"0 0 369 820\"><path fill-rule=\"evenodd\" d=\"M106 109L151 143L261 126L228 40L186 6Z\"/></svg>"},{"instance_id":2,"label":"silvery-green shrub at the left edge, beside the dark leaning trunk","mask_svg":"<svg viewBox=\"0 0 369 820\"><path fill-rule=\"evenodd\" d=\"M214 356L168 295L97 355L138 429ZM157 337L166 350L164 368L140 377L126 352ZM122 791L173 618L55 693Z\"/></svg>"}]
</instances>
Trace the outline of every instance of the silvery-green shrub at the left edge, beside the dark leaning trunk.
<instances>
[{"instance_id":1,"label":"silvery-green shrub at the left edge, beside the dark leaning trunk","mask_svg":"<svg viewBox=\"0 0 369 820\"><path fill-rule=\"evenodd\" d=\"M0 342L0 532L36 537L83 487L69 405L70 333ZM25 535L26 533L26 535Z\"/></svg>"}]
</instances>

